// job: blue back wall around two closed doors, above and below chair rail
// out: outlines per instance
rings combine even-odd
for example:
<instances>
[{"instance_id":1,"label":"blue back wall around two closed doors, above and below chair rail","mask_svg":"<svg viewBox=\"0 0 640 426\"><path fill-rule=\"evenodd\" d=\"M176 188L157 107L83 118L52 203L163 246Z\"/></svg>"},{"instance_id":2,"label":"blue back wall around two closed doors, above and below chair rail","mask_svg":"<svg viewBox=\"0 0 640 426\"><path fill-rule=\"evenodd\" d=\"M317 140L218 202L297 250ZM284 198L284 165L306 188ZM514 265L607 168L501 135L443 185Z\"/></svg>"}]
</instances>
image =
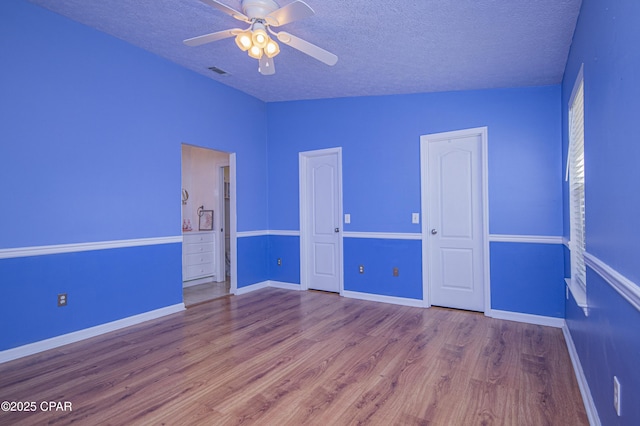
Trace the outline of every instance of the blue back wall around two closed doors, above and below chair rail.
<instances>
[{"instance_id":1,"label":"blue back wall around two closed doors, above and below chair rail","mask_svg":"<svg viewBox=\"0 0 640 426\"><path fill-rule=\"evenodd\" d=\"M344 230L420 232L411 223L420 212L420 136L488 126L490 232L562 233L559 86L271 103L267 114L270 229L299 229L298 153L341 146L344 212L351 214ZM513 256L492 252L492 295L501 308L562 316L562 251L536 250L521 251L508 278L500 268ZM345 289L419 299L420 253L419 241L345 238ZM522 276L550 262L554 269L539 274L549 281ZM400 277L387 280L398 263ZM359 264L384 278L358 274Z\"/></svg>"}]
</instances>

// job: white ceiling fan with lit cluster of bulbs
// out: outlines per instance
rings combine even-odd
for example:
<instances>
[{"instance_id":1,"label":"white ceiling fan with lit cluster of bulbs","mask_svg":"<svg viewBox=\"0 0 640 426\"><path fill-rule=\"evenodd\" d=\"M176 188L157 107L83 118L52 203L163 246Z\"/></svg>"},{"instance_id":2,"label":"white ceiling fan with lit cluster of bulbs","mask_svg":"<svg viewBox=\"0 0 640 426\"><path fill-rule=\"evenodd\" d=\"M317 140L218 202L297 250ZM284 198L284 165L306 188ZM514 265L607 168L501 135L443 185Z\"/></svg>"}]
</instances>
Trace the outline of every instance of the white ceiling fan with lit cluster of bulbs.
<instances>
[{"instance_id":1,"label":"white ceiling fan with lit cluster of bulbs","mask_svg":"<svg viewBox=\"0 0 640 426\"><path fill-rule=\"evenodd\" d=\"M187 46L200 46L206 43L236 38L238 47L246 51L252 58L258 59L258 71L262 75L276 72L273 58L280 52L280 46L269 34L278 41L305 53L327 65L335 65L338 57L315 44L309 43L285 31L275 32L271 27L279 27L293 21L307 18L315 14L308 4L296 0L280 7L273 0L242 0L242 12L239 12L217 0L200 0L239 21L249 24L247 29L231 28L184 40Z\"/></svg>"}]
</instances>

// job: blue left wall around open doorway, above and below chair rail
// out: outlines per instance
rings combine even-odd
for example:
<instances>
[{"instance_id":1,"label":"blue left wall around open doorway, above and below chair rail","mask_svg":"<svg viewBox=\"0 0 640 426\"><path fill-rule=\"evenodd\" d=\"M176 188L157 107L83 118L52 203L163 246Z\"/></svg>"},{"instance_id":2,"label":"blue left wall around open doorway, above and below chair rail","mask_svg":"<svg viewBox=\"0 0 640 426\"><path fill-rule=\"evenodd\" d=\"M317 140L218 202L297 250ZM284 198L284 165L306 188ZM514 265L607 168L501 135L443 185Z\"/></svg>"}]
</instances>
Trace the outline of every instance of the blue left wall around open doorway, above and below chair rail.
<instances>
[{"instance_id":1,"label":"blue left wall around open doorway, above and below chair rail","mask_svg":"<svg viewBox=\"0 0 640 426\"><path fill-rule=\"evenodd\" d=\"M237 153L238 230L266 229L263 102L22 0L0 2L0 57L0 249L179 236L181 143ZM180 244L0 259L0 349L181 287Z\"/></svg>"}]
</instances>

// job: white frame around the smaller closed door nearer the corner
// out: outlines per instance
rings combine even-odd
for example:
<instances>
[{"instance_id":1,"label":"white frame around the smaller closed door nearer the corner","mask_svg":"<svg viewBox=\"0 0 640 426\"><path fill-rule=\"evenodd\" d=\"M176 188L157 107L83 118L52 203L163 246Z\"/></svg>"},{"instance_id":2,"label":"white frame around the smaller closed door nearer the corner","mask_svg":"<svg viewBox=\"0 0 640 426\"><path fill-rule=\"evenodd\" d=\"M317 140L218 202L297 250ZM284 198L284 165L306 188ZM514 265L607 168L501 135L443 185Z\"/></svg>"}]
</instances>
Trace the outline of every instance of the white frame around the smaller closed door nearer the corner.
<instances>
[{"instance_id":1,"label":"white frame around the smaller closed door nearer the corner","mask_svg":"<svg viewBox=\"0 0 640 426\"><path fill-rule=\"evenodd\" d=\"M343 246L343 223L342 223L342 147L326 148L314 151L304 151L298 153L298 189L300 194L300 289L309 289L309 273L311 271L308 259L311 243L311 224L307 220L309 213L309 194L306 191L307 171L309 159L329 154L338 156L338 218L340 220L340 232L338 235L338 278L340 296L344 293L344 246Z\"/></svg>"}]
</instances>

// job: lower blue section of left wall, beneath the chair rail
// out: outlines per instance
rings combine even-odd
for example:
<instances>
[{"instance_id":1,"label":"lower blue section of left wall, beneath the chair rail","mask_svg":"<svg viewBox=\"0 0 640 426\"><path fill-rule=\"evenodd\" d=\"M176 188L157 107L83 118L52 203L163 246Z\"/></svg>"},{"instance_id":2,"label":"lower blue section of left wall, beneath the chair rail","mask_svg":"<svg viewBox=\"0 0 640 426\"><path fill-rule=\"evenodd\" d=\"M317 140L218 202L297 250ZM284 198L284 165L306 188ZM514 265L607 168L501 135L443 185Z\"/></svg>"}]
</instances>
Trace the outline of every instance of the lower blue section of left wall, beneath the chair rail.
<instances>
[{"instance_id":1,"label":"lower blue section of left wall, beneath the chair rail","mask_svg":"<svg viewBox=\"0 0 640 426\"><path fill-rule=\"evenodd\" d=\"M174 243L0 260L0 351L181 303L181 256Z\"/></svg>"}]
</instances>

